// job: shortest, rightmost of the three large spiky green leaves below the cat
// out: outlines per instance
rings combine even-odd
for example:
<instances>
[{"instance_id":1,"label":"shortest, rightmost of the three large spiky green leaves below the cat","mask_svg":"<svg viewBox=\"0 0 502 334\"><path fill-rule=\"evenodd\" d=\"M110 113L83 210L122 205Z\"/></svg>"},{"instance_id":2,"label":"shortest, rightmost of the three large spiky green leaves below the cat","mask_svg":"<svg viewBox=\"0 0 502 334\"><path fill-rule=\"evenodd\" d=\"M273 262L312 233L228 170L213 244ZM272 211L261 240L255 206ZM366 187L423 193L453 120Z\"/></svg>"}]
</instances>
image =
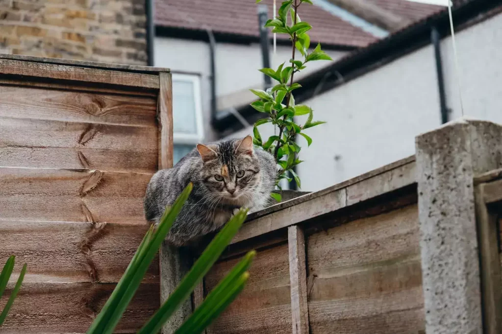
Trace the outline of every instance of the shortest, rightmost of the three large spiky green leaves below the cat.
<instances>
[{"instance_id":1,"label":"shortest, rightmost of the three large spiky green leaves below the cat","mask_svg":"<svg viewBox=\"0 0 502 334\"><path fill-rule=\"evenodd\" d=\"M253 259L256 256L256 251L248 252L238 264L236 264L228 275L207 295L202 304L197 307L193 314L181 325L175 332L176 334L184 333L200 333L206 328L210 322L215 319L238 294L234 291L241 290L247 279L242 275L246 273ZM222 307L222 305L225 305Z\"/></svg>"}]
</instances>

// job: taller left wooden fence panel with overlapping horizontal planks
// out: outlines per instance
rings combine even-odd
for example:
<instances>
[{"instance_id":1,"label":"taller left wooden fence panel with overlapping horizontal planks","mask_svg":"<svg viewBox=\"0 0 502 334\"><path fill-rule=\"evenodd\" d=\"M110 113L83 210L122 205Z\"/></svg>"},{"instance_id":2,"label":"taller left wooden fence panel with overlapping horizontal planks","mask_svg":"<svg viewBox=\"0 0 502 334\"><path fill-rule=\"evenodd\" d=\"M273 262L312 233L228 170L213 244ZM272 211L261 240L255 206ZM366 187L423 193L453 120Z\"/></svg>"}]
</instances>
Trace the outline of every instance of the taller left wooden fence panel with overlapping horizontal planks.
<instances>
[{"instance_id":1,"label":"taller left wooden fence panel with overlapping horizontal planks","mask_svg":"<svg viewBox=\"0 0 502 334\"><path fill-rule=\"evenodd\" d=\"M171 102L166 69L0 55L0 263L28 264L0 332L87 330L148 229L151 176L172 164ZM157 263L117 332L158 308Z\"/></svg>"}]
</instances>

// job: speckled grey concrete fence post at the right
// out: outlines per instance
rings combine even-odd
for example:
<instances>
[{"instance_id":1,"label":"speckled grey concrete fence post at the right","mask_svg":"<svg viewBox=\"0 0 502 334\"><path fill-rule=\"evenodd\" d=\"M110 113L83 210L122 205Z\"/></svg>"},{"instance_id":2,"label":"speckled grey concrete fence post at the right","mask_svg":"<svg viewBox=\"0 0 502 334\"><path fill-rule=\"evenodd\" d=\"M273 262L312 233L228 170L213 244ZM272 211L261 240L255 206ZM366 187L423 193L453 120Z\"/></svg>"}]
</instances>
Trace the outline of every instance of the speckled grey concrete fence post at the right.
<instances>
[{"instance_id":1,"label":"speckled grey concrete fence post at the right","mask_svg":"<svg viewBox=\"0 0 502 334\"><path fill-rule=\"evenodd\" d=\"M462 118L416 138L428 333L482 333L473 179L502 164L502 126Z\"/></svg>"}]
</instances>

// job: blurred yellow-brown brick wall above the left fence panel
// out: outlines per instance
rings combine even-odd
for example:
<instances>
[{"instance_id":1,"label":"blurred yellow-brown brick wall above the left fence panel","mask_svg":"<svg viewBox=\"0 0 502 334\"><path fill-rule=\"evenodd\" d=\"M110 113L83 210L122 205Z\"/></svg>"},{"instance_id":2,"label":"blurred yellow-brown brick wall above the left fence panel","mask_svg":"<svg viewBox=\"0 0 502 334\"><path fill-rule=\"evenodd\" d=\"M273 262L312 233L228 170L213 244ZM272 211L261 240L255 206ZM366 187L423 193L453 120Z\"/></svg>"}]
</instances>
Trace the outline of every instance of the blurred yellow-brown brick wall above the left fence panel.
<instances>
[{"instance_id":1,"label":"blurred yellow-brown brick wall above the left fence panel","mask_svg":"<svg viewBox=\"0 0 502 334\"><path fill-rule=\"evenodd\" d=\"M0 0L0 53L147 63L145 0Z\"/></svg>"}]
</instances>

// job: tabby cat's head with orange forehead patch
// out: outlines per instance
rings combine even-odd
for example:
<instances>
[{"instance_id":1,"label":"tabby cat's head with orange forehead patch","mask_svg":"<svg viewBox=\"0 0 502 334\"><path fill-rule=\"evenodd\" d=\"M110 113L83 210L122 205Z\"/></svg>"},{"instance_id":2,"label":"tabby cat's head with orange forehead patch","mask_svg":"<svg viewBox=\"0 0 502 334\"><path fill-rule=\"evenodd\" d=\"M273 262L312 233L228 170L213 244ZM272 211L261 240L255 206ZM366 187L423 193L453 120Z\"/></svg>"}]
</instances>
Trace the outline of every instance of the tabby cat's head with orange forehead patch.
<instances>
[{"instance_id":1,"label":"tabby cat's head with orange forehead patch","mask_svg":"<svg viewBox=\"0 0 502 334\"><path fill-rule=\"evenodd\" d=\"M203 161L200 176L211 192L229 200L253 196L260 182L260 162L251 136L198 144L197 150Z\"/></svg>"}]
</instances>

